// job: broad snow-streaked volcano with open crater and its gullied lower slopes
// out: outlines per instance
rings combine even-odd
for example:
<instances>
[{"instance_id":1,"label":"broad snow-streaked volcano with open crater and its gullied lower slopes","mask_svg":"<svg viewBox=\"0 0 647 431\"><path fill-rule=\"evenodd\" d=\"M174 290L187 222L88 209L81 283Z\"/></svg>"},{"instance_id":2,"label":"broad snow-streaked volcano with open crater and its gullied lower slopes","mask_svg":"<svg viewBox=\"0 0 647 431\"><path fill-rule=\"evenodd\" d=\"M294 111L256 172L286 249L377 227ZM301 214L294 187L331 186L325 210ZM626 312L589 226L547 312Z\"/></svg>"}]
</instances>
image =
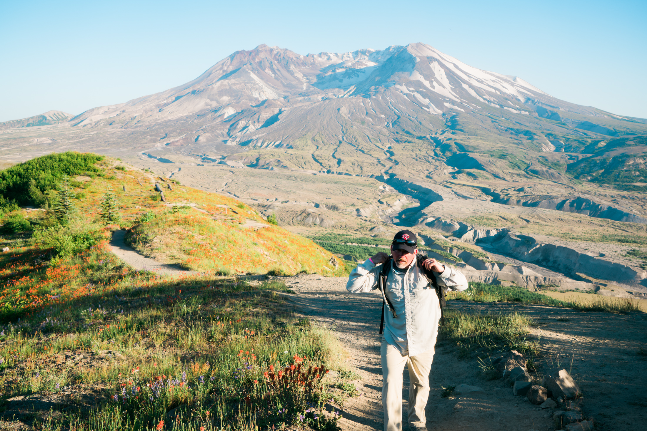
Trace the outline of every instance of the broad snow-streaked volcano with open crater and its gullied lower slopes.
<instances>
[{"instance_id":1,"label":"broad snow-streaked volcano with open crater and its gullied lower slopes","mask_svg":"<svg viewBox=\"0 0 647 431\"><path fill-rule=\"evenodd\" d=\"M647 120L559 100L422 43L307 56L259 45L184 85L89 109L66 124L0 136L0 152L119 154L176 173L184 166L181 175L205 187L229 171L186 167L237 167L250 180L232 193L250 198L279 193L250 184L259 169L374 178L419 201L420 211L399 218L419 226L431 223L425 205L466 199L647 221L642 204L611 202L604 188L647 190ZM640 169L627 175L630 166Z\"/></svg>"}]
</instances>

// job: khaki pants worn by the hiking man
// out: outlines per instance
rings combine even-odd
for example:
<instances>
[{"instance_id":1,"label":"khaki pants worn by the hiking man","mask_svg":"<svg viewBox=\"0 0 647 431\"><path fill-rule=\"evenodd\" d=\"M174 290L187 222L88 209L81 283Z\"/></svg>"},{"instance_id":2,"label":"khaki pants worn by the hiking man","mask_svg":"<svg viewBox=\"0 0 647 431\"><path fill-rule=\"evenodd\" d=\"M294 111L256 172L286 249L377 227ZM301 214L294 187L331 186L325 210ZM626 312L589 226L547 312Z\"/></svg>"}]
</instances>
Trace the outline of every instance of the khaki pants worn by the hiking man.
<instances>
[{"instance_id":1,"label":"khaki pants worn by the hiking man","mask_svg":"<svg viewBox=\"0 0 647 431\"><path fill-rule=\"evenodd\" d=\"M382 406L384 431L402 430L402 372L409 369L408 421L414 426L426 426L424 408L429 396L429 372L434 350L415 356L402 355L397 348L382 339Z\"/></svg>"}]
</instances>

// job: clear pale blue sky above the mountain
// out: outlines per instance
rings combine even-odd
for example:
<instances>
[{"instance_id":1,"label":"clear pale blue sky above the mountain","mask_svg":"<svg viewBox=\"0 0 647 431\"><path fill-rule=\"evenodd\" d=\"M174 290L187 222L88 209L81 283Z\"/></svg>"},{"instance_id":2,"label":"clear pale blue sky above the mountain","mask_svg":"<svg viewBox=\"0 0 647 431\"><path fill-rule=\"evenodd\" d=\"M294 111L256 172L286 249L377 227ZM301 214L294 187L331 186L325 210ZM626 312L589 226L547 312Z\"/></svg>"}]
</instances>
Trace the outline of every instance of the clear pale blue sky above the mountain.
<instances>
[{"instance_id":1,"label":"clear pale blue sky above the mountain","mask_svg":"<svg viewBox=\"0 0 647 431\"><path fill-rule=\"evenodd\" d=\"M0 0L0 121L166 90L261 43L308 54L413 42L647 118L644 0Z\"/></svg>"}]
</instances>

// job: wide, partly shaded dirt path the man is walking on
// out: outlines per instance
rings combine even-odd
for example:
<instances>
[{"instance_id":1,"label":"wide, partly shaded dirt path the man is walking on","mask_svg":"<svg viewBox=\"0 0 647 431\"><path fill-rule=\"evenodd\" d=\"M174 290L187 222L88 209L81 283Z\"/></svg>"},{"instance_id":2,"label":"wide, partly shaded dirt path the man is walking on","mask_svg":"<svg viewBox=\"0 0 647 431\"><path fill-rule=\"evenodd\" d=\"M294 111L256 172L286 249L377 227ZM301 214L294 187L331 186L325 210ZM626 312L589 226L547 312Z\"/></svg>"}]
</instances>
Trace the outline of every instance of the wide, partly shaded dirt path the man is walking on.
<instances>
[{"instance_id":1,"label":"wide, partly shaded dirt path the man is walking on","mask_svg":"<svg viewBox=\"0 0 647 431\"><path fill-rule=\"evenodd\" d=\"M347 401L340 421L343 430L382 430L382 375L380 368L380 297L351 294L345 278L298 275L282 278L296 293L289 295L302 315L332 328L344 342L349 364L362 376L355 382L362 395ZM585 417L593 417L598 430L634 431L646 423L647 315L614 315L545 306L507 303L450 302L463 311L519 311L536 319L530 337L541 337L542 353L536 360L540 379L558 361L569 368L584 392ZM642 350L641 350L642 349ZM430 430L553 430L556 409L542 410L525 397L516 397L501 380L485 381L475 357L457 359L455 346L437 348L430 376L432 391L427 405ZM559 358L557 357L559 355ZM404 372L406 411L408 373ZM479 386L473 397L441 397L441 386ZM404 419L404 418L403 418ZM406 428L405 428L406 429Z\"/></svg>"}]
</instances>

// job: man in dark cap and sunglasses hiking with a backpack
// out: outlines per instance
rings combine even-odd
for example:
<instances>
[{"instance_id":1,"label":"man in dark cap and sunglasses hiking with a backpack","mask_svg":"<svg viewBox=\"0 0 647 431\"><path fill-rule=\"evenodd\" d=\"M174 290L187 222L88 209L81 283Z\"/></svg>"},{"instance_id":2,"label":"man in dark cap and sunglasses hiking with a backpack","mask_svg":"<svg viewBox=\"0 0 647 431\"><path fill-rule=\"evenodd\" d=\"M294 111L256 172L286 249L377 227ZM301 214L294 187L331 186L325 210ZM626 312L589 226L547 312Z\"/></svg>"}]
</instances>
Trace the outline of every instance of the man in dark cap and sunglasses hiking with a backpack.
<instances>
[{"instance_id":1,"label":"man in dark cap and sunglasses hiking with a backpack","mask_svg":"<svg viewBox=\"0 0 647 431\"><path fill-rule=\"evenodd\" d=\"M346 288L352 293L382 289L382 406L384 431L402 430L402 370L409 370L408 422L426 431L424 408L429 372L441 319L441 300L448 289L467 289L465 275L435 259L418 257L411 231L399 231L391 244L393 258L377 253L353 269ZM382 333L382 328L380 328Z\"/></svg>"}]
</instances>

